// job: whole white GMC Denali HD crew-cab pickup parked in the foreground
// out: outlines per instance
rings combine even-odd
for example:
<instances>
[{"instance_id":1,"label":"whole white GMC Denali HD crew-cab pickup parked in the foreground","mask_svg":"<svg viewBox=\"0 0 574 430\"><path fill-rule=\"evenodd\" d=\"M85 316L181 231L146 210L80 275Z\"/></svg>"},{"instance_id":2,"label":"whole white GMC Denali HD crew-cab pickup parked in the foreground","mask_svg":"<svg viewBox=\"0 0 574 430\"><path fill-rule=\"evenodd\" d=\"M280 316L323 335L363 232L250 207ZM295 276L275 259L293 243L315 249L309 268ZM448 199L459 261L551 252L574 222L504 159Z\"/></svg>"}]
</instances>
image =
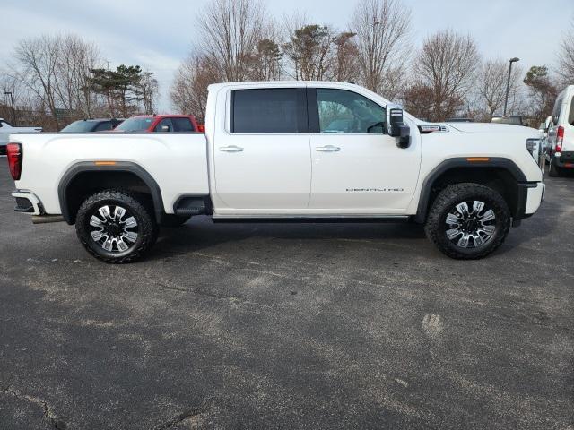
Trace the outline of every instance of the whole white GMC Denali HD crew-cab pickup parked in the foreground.
<instances>
[{"instance_id":1,"label":"whole white GMC Denali HD crew-cab pickup parked in the foreground","mask_svg":"<svg viewBox=\"0 0 574 430\"><path fill-rule=\"evenodd\" d=\"M404 219L453 258L490 254L538 209L534 129L429 124L342 82L209 87L202 133L15 134L16 211L75 224L105 262L131 262L162 224Z\"/></svg>"}]
</instances>

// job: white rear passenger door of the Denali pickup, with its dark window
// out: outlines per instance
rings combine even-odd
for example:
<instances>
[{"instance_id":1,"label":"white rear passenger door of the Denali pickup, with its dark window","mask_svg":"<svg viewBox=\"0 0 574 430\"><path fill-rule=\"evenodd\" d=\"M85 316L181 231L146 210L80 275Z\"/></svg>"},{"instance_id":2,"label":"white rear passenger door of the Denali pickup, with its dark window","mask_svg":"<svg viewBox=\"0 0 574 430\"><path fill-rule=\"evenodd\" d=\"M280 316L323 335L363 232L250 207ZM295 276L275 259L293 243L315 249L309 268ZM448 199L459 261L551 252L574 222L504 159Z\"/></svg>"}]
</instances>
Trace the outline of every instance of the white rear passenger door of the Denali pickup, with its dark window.
<instances>
[{"instance_id":1,"label":"white rear passenger door of the Denali pickup, with its dark window","mask_svg":"<svg viewBox=\"0 0 574 430\"><path fill-rule=\"evenodd\" d=\"M213 140L217 213L300 213L311 184L305 87L241 87L226 96L230 117Z\"/></svg>"}]
</instances>

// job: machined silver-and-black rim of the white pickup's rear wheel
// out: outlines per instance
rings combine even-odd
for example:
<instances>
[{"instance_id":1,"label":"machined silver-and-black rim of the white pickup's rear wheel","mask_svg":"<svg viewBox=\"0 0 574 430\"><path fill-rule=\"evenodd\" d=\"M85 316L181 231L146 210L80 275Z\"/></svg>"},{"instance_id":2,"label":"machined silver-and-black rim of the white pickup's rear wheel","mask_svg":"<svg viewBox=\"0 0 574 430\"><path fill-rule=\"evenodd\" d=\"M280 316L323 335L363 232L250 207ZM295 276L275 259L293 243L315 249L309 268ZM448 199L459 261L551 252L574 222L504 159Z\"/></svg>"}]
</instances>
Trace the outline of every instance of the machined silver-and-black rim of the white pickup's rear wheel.
<instances>
[{"instance_id":1,"label":"machined silver-and-black rim of the white pickup's rear wheel","mask_svg":"<svg viewBox=\"0 0 574 430\"><path fill-rule=\"evenodd\" d=\"M123 253L137 240L137 221L125 208L105 205L91 215L89 231L105 251Z\"/></svg>"}]
</instances>

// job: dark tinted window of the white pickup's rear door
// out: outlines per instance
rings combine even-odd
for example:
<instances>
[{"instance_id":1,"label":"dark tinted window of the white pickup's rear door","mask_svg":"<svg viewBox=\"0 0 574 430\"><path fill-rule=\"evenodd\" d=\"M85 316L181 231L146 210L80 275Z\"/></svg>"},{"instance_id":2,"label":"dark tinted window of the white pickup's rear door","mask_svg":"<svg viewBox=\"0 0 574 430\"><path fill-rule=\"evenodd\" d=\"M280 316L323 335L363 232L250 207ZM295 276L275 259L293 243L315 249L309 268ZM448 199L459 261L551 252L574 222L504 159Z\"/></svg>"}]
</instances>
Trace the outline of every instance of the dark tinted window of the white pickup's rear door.
<instances>
[{"instance_id":1,"label":"dark tinted window of the white pickup's rear door","mask_svg":"<svg viewBox=\"0 0 574 430\"><path fill-rule=\"evenodd\" d=\"M309 133L305 89L234 90L233 133Z\"/></svg>"}]
</instances>

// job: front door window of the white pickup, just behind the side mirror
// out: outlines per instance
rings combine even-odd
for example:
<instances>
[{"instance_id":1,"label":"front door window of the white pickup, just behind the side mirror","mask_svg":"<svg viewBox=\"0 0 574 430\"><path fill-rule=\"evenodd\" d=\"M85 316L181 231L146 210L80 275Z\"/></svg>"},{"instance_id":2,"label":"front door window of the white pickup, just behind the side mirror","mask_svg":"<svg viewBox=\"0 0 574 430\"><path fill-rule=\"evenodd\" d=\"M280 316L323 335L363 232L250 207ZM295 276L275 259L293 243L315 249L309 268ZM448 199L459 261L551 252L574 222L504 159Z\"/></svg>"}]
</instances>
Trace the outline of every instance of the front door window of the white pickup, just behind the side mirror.
<instances>
[{"instance_id":1,"label":"front door window of the white pickup, just behind the side mirror","mask_svg":"<svg viewBox=\"0 0 574 430\"><path fill-rule=\"evenodd\" d=\"M347 90L317 89L320 133L384 133L385 108Z\"/></svg>"}]
</instances>

